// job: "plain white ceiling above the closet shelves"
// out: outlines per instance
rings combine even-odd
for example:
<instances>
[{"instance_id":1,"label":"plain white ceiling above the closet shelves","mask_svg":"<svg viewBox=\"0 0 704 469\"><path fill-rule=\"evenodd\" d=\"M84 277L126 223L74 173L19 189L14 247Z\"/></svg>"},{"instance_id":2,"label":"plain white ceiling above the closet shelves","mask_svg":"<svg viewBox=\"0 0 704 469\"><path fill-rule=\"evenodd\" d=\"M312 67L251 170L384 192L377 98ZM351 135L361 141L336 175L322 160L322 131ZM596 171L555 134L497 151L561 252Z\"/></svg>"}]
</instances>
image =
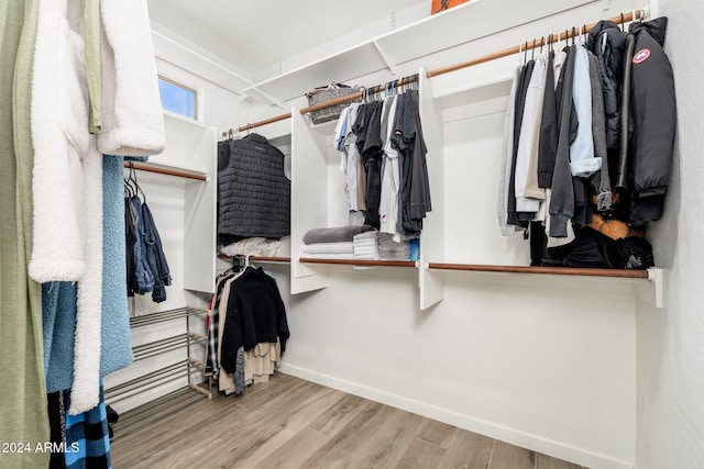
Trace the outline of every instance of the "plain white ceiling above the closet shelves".
<instances>
[{"instance_id":1,"label":"plain white ceiling above the closet shelves","mask_svg":"<svg viewBox=\"0 0 704 469\"><path fill-rule=\"evenodd\" d=\"M415 7L414 11L422 8L430 14L431 2L147 0L147 3L151 20L157 27L176 33L256 80L263 71L277 68L286 58L353 34L382 19L389 19L391 30L392 18L396 19L398 12Z\"/></svg>"}]
</instances>

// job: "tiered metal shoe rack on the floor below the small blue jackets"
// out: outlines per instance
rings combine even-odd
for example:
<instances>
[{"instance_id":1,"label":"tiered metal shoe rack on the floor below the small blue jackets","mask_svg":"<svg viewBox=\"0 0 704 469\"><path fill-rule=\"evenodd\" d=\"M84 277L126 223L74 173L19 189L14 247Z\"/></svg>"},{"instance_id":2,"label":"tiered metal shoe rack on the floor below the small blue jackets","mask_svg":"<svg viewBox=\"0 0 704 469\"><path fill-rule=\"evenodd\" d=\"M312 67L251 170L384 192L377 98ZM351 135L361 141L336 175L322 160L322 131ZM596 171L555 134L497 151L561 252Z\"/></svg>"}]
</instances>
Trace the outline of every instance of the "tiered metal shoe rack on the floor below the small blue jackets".
<instances>
[{"instance_id":1,"label":"tiered metal shoe rack on the floor below the small blue jackets","mask_svg":"<svg viewBox=\"0 0 704 469\"><path fill-rule=\"evenodd\" d=\"M124 399L129 399L141 392L148 391L169 381L183 378L184 376L186 376L188 379L188 386L186 389L193 389L194 391L206 395L208 399L212 399L211 379L208 378L207 383L197 383L194 382L193 377L195 371L202 371L205 368L205 362L202 360L196 359L191 356L191 346L200 344L206 347L208 343L208 337L206 335L191 331L193 316L202 314L208 314L208 310L186 306L158 313L145 314L142 316L130 317L131 328L144 327L147 325L154 325L167 321L177 321L183 319L186 320L185 333L150 342L147 344L134 346L132 348L132 353L134 354L134 361L153 358L161 354L178 349L186 350L186 358L184 360L176 361L167 367L151 371L147 375L107 389L106 401L114 403Z\"/></svg>"}]
</instances>

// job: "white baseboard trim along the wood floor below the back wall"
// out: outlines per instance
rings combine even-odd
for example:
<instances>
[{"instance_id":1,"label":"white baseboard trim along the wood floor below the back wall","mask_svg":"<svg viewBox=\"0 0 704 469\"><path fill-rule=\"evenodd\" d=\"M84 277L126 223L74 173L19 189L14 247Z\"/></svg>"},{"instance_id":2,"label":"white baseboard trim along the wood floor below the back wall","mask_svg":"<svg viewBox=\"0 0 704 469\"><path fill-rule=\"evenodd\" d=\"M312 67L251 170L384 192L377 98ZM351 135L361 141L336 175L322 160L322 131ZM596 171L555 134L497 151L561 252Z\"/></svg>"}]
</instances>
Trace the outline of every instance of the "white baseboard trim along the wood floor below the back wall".
<instances>
[{"instance_id":1,"label":"white baseboard trim along the wood floor below the back wall","mask_svg":"<svg viewBox=\"0 0 704 469\"><path fill-rule=\"evenodd\" d=\"M564 459L588 468L600 469L632 469L634 462L610 457L608 455L590 451L584 448L566 445L558 440L543 438L516 428L509 428L471 415L459 414L448 409L386 392L381 389L348 381L338 377L314 371L307 368L283 362L279 371L285 375L312 381L321 386L349 392L350 394L381 402L386 405L403 409L428 418L433 418L457 427L479 433L512 445Z\"/></svg>"}]
</instances>

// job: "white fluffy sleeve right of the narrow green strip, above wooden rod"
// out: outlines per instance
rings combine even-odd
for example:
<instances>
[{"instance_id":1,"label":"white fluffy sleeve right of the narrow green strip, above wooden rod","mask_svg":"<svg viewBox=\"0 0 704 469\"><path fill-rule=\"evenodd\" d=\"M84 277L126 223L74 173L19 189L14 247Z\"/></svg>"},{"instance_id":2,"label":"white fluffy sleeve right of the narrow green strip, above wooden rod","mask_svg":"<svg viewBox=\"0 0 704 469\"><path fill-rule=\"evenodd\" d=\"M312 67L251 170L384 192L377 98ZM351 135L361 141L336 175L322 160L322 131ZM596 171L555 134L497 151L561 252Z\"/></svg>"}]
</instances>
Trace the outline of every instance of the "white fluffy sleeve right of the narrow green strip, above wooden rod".
<instances>
[{"instance_id":1,"label":"white fluffy sleeve right of the narrow green strip, above wooden rod","mask_svg":"<svg viewBox=\"0 0 704 469\"><path fill-rule=\"evenodd\" d=\"M100 9L103 96L98 149L122 156L162 153L164 116L146 1L103 1Z\"/></svg>"}]
</instances>

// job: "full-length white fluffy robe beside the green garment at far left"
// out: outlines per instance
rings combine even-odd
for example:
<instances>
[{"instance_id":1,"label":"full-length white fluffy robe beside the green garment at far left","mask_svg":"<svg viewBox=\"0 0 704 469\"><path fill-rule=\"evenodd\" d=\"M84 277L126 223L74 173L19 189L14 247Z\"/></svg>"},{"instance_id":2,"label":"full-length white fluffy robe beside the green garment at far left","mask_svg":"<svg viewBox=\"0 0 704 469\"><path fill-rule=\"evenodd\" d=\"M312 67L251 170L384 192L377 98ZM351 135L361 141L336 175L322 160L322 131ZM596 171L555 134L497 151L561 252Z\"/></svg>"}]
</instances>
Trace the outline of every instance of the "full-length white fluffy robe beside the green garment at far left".
<instances>
[{"instance_id":1,"label":"full-length white fluffy robe beside the green garment at far left","mask_svg":"<svg viewBox=\"0 0 704 469\"><path fill-rule=\"evenodd\" d=\"M80 0L41 0L32 82L34 245L30 275L78 280L69 412L98 404L102 299L102 155L88 132Z\"/></svg>"}]
</instances>

